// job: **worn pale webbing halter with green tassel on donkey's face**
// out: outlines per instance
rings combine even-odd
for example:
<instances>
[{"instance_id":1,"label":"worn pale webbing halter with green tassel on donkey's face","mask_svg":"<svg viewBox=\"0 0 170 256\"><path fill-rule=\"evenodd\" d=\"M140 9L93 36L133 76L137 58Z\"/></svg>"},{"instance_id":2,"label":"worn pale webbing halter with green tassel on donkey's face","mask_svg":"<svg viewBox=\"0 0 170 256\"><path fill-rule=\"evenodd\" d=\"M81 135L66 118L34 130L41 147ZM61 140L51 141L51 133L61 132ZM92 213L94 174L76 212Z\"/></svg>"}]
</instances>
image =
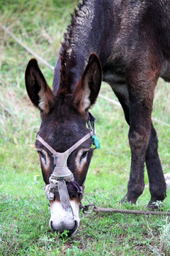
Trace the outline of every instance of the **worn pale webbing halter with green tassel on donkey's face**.
<instances>
[{"instance_id":1,"label":"worn pale webbing halter with green tassel on donkey's face","mask_svg":"<svg viewBox=\"0 0 170 256\"><path fill-rule=\"evenodd\" d=\"M37 134L38 141L52 153L55 164L55 169L49 178L50 183L45 186L45 194L48 200L53 201L55 198L55 191L58 191L62 208L64 208L65 210L69 210L69 208L71 208L72 210L72 206L69 202L69 193L67 191L66 182L72 182L74 187L77 188L80 199L83 197L84 193L84 186L81 187L76 181L74 181L74 175L67 166L67 159L75 149L77 149L82 143L86 142L86 140L89 138L93 139L93 143L95 144L96 149L100 149L100 142L96 137L96 130L94 127L95 120L95 117L89 112L89 120L87 122L87 125L91 132L86 134L77 143L75 143L63 153L57 152L55 151L55 149L52 149L52 147Z\"/></svg>"}]
</instances>

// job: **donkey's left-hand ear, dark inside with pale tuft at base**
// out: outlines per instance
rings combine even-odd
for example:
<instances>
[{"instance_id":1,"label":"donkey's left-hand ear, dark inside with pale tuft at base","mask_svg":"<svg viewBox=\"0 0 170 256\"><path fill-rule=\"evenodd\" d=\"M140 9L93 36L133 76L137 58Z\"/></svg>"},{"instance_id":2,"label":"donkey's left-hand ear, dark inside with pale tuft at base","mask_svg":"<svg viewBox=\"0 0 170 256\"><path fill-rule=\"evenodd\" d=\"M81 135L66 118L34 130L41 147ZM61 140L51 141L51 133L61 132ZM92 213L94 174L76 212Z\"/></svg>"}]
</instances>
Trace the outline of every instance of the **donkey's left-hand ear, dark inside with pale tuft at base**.
<instances>
[{"instance_id":1,"label":"donkey's left-hand ear, dark inside with pale tuft at base","mask_svg":"<svg viewBox=\"0 0 170 256\"><path fill-rule=\"evenodd\" d=\"M26 90L31 102L35 107L45 114L50 112L54 105L55 96L47 85L47 82L38 67L37 60L31 59L28 62L25 74Z\"/></svg>"}]
</instances>

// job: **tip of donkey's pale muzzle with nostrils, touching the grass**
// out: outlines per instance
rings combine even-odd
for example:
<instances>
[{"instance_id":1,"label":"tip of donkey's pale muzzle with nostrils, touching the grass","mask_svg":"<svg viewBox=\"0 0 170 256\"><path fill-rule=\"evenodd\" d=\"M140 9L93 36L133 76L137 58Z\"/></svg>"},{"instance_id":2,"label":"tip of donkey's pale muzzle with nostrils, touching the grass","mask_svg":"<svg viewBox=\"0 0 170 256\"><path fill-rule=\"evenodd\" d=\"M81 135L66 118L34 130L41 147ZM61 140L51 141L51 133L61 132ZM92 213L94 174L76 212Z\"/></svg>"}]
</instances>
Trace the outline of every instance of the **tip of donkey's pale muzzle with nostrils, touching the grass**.
<instances>
[{"instance_id":1,"label":"tip of donkey's pale muzzle with nostrils, touching the grass","mask_svg":"<svg viewBox=\"0 0 170 256\"><path fill-rule=\"evenodd\" d=\"M57 220L50 220L50 229L55 232L59 231L60 234L64 232L64 230L68 230L68 235L72 235L77 228L79 228L79 223L77 220L67 220L67 222L64 221L57 221Z\"/></svg>"}]
</instances>

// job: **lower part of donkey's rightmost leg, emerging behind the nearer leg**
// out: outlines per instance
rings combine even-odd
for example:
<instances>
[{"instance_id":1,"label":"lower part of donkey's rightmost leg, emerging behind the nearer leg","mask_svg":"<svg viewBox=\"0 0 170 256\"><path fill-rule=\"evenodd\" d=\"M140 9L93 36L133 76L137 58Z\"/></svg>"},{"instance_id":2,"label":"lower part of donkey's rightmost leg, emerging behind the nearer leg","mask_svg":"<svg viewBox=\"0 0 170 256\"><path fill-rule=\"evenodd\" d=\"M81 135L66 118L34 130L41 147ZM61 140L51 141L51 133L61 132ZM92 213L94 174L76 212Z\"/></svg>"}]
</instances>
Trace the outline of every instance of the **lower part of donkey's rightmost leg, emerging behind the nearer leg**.
<instances>
[{"instance_id":1,"label":"lower part of donkey's rightmost leg, emerging behind the nearer leg","mask_svg":"<svg viewBox=\"0 0 170 256\"><path fill-rule=\"evenodd\" d=\"M148 203L148 208L157 208L157 206L155 206L153 203L156 201L163 201L166 197L166 183L157 149L157 132L154 129L153 124L151 124L149 145L147 147L145 156L147 173L149 177L149 191L151 193L151 200Z\"/></svg>"}]
</instances>

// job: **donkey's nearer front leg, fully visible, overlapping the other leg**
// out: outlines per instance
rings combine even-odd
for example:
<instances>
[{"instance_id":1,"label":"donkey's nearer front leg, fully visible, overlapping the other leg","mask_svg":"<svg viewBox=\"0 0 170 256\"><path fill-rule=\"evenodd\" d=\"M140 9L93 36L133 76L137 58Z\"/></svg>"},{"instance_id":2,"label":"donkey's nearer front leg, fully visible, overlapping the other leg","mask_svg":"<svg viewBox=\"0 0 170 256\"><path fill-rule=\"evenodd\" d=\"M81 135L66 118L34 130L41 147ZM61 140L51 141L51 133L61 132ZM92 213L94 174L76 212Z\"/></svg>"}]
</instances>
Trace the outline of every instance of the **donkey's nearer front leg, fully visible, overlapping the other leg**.
<instances>
[{"instance_id":1,"label":"donkey's nearer front leg, fully visible, overlapping the other leg","mask_svg":"<svg viewBox=\"0 0 170 256\"><path fill-rule=\"evenodd\" d=\"M130 98L128 137L131 149L131 166L126 197L130 203L136 203L137 198L145 188L145 154L149 144L154 87L156 85L156 81L150 80L148 82L147 78L145 79L143 74L132 74L128 78Z\"/></svg>"}]
</instances>

